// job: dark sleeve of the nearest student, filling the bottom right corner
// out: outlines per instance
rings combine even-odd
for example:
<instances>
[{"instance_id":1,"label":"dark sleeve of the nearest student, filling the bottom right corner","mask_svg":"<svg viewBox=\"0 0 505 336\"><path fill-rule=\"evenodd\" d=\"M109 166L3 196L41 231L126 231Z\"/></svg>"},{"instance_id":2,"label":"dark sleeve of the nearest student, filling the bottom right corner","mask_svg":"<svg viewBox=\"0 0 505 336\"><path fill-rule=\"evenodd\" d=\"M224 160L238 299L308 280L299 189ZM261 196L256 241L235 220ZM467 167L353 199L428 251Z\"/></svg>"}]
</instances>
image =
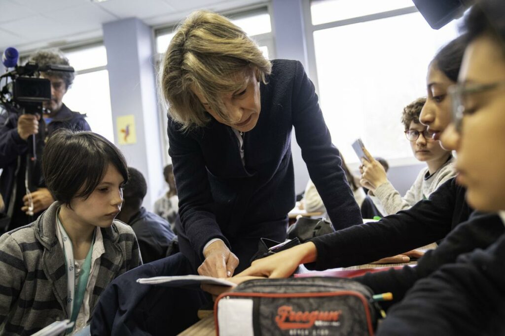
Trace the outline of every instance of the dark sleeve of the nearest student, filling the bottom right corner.
<instances>
[{"instance_id":1,"label":"dark sleeve of the nearest student, filling the bottom right corner","mask_svg":"<svg viewBox=\"0 0 505 336\"><path fill-rule=\"evenodd\" d=\"M505 334L505 235L416 283L377 335Z\"/></svg>"}]
</instances>

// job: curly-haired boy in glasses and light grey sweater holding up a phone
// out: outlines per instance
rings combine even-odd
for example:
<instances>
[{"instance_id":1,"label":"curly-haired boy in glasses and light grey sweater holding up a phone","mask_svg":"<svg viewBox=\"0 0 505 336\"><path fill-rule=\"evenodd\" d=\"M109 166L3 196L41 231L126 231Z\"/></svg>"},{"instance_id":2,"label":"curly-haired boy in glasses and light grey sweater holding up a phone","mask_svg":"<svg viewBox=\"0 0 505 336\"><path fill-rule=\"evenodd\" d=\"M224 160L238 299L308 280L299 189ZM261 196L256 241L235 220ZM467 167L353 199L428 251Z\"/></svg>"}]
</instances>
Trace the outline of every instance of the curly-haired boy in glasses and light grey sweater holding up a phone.
<instances>
[{"instance_id":1,"label":"curly-haired boy in glasses and light grey sweater holding up a phone","mask_svg":"<svg viewBox=\"0 0 505 336\"><path fill-rule=\"evenodd\" d=\"M419 121L425 103L426 98L418 98L407 105L401 114L401 122L405 126L405 135L410 141L414 157L427 165L419 172L405 196L401 197L387 179L382 165L371 155L368 160L363 159L360 166L360 183L369 189L368 195L384 216L409 209L420 200L428 199L441 184L456 176L454 158L450 151L442 148L439 141L433 140L433 132Z\"/></svg>"}]
</instances>

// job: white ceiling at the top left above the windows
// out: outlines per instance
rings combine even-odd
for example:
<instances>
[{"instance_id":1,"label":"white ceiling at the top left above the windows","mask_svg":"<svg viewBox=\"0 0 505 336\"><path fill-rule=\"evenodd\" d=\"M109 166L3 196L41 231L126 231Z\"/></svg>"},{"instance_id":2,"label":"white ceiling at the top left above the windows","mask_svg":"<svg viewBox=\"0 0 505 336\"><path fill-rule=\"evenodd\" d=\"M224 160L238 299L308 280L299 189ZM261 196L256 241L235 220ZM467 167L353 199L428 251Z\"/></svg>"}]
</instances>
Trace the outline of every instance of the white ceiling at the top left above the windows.
<instances>
[{"instance_id":1,"label":"white ceiling at the top left above the windows","mask_svg":"<svg viewBox=\"0 0 505 336\"><path fill-rule=\"evenodd\" d=\"M264 0L0 0L0 50L21 53L102 36L107 22L137 17L150 26L179 21L196 9L225 12Z\"/></svg>"}]
</instances>

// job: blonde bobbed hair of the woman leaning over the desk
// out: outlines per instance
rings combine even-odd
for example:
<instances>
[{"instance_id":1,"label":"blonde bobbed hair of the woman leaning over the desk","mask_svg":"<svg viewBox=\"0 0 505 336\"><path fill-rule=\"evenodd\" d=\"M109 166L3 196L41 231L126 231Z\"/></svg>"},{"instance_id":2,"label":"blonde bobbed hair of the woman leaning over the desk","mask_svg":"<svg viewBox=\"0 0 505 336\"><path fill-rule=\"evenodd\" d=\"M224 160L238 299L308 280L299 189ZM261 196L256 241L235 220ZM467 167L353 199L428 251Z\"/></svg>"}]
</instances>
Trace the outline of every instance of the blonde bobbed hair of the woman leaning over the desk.
<instances>
[{"instance_id":1,"label":"blonde bobbed hair of the woman leaning over the desk","mask_svg":"<svg viewBox=\"0 0 505 336\"><path fill-rule=\"evenodd\" d=\"M251 70L265 84L272 70L254 41L219 14L191 13L179 25L163 58L161 94L170 116L183 130L205 126L210 117L192 91L196 90L222 119L231 121L219 95L242 87L237 75Z\"/></svg>"}]
</instances>

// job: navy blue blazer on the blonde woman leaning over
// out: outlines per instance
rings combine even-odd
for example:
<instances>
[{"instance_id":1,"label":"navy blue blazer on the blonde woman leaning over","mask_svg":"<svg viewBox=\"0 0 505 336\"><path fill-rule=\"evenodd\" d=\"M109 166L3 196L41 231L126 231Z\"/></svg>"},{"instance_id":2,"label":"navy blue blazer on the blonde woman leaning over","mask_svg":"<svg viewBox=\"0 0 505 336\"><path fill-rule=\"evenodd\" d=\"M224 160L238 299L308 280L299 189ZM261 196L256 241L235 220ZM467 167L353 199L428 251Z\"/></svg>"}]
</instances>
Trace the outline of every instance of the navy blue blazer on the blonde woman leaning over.
<instances>
[{"instance_id":1,"label":"navy blue blazer on the blonde woman leaning over","mask_svg":"<svg viewBox=\"0 0 505 336\"><path fill-rule=\"evenodd\" d=\"M335 228L362 223L314 85L299 61L277 59L272 65L267 84L260 85L258 123L244 135L245 165L230 126L212 118L206 127L184 133L169 117L180 229L199 255L212 238L229 246L227 237L250 238L248 233L254 231L260 238L262 231L274 229L265 223L285 225L295 203L293 126L302 158Z\"/></svg>"}]
</instances>

